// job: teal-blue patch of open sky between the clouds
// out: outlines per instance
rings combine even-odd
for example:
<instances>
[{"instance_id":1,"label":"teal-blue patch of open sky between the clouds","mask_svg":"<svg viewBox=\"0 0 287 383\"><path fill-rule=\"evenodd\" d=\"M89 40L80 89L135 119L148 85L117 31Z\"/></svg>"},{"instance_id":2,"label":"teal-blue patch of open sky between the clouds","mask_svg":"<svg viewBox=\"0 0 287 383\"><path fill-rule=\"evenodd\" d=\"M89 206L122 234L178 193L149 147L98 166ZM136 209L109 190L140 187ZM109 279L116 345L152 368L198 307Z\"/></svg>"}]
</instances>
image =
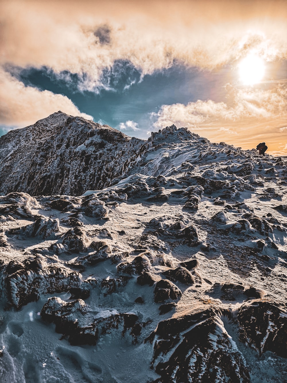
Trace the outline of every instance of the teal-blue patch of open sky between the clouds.
<instances>
[{"instance_id":1,"label":"teal-blue patch of open sky between the clouds","mask_svg":"<svg viewBox=\"0 0 287 383\"><path fill-rule=\"evenodd\" d=\"M67 96L81 112L93 116L96 122L119 129L121 123L134 121L139 130L127 127L124 133L147 138L147 132L153 130L152 116L162 105L186 105L207 99L223 101L229 69L210 73L174 63L169 69L141 77L139 70L129 61L119 60L113 67L103 70L100 79L103 86L98 92L80 90L79 84L85 79L66 71L59 75L47 67L10 67L8 70L27 86Z\"/></svg>"}]
</instances>

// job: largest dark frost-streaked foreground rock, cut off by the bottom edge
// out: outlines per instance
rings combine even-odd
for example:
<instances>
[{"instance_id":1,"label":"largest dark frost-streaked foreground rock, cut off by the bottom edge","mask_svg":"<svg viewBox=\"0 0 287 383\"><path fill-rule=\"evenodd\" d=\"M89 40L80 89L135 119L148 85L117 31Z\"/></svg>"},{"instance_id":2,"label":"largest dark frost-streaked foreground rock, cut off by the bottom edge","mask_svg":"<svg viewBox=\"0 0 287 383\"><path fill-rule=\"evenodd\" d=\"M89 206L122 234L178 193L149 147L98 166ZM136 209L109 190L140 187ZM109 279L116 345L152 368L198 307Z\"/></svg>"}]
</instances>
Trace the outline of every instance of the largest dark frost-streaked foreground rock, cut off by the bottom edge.
<instances>
[{"instance_id":1,"label":"largest dark frost-streaked foreground rock, cut off by the bottom edge","mask_svg":"<svg viewBox=\"0 0 287 383\"><path fill-rule=\"evenodd\" d=\"M158 383L249 382L243 357L213 309L159 322L147 341Z\"/></svg>"}]
</instances>

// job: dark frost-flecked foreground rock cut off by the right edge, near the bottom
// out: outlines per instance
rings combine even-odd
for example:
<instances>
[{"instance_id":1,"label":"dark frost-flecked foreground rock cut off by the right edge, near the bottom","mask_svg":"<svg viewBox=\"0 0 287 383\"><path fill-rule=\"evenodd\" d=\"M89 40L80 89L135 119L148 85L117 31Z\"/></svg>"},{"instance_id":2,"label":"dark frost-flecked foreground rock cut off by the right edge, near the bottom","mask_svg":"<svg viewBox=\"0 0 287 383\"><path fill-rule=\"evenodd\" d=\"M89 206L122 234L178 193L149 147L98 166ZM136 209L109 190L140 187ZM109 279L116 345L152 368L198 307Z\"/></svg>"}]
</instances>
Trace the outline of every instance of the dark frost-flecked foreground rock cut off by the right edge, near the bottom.
<instances>
[{"instance_id":1,"label":"dark frost-flecked foreground rock cut off by the right edge, near the bottom","mask_svg":"<svg viewBox=\"0 0 287 383\"><path fill-rule=\"evenodd\" d=\"M287 312L268 301L244 303L238 312L240 340L258 350L269 350L286 358Z\"/></svg>"}]
</instances>

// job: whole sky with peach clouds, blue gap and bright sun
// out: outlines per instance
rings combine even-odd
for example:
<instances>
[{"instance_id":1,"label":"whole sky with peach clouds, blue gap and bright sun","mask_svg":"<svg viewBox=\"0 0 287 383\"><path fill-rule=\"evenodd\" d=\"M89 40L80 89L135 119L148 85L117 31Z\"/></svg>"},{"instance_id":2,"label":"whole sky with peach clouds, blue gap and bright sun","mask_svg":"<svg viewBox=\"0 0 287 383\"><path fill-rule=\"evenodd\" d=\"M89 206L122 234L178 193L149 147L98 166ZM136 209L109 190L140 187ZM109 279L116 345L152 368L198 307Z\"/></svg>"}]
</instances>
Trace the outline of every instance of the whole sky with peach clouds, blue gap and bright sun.
<instances>
[{"instance_id":1,"label":"whole sky with peach clouds, blue gap and bright sun","mask_svg":"<svg viewBox=\"0 0 287 383\"><path fill-rule=\"evenodd\" d=\"M55 111L287 155L287 3L0 2L0 135Z\"/></svg>"}]
</instances>

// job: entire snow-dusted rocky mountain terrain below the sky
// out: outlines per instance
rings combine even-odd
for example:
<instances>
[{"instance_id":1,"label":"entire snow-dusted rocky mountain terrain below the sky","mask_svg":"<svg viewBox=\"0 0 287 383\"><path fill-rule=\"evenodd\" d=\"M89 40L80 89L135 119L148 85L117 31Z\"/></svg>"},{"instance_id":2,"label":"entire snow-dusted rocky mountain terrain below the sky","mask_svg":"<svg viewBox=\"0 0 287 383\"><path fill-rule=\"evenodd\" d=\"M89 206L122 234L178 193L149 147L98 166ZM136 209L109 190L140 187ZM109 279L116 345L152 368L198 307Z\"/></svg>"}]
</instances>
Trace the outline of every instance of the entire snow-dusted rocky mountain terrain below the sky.
<instances>
[{"instance_id":1,"label":"entire snow-dusted rocky mountain terrain below the sky","mask_svg":"<svg viewBox=\"0 0 287 383\"><path fill-rule=\"evenodd\" d=\"M0 381L287 381L287 158L54 113L0 138Z\"/></svg>"}]
</instances>

